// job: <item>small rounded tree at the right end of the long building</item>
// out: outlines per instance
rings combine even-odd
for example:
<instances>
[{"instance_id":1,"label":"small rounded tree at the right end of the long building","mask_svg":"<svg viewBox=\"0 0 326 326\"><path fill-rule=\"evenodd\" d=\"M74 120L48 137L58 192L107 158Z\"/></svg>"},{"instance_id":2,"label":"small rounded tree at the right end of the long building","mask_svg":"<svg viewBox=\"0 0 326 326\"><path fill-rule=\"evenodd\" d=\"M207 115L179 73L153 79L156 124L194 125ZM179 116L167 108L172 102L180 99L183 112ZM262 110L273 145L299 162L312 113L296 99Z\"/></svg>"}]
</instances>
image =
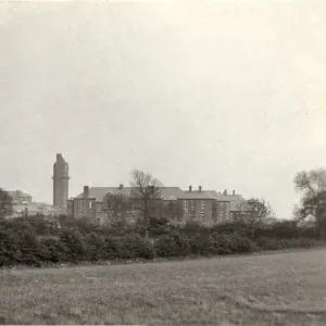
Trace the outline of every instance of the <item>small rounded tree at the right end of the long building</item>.
<instances>
[{"instance_id":1,"label":"small rounded tree at the right end of the long building","mask_svg":"<svg viewBox=\"0 0 326 326\"><path fill-rule=\"evenodd\" d=\"M244 217L243 220L249 227L252 238L254 238L255 230L259 227L274 220L273 210L264 199L252 198L240 205L240 212Z\"/></svg>"}]
</instances>

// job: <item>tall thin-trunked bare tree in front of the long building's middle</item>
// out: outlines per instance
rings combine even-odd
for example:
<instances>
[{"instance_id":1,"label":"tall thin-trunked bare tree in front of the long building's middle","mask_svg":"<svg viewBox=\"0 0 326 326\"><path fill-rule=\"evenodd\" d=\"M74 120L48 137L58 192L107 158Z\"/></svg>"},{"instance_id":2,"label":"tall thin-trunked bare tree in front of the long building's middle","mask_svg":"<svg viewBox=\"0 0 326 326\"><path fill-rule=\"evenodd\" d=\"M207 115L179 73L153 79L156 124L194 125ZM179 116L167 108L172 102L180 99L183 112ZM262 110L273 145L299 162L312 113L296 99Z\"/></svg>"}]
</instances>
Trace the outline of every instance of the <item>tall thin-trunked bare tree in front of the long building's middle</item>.
<instances>
[{"instance_id":1,"label":"tall thin-trunked bare tree in front of the long building's middle","mask_svg":"<svg viewBox=\"0 0 326 326\"><path fill-rule=\"evenodd\" d=\"M156 202L161 200L162 184L149 173L134 170L131 171L130 186L134 204L136 209L142 212L145 237L148 239L149 218Z\"/></svg>"}]
</instances>

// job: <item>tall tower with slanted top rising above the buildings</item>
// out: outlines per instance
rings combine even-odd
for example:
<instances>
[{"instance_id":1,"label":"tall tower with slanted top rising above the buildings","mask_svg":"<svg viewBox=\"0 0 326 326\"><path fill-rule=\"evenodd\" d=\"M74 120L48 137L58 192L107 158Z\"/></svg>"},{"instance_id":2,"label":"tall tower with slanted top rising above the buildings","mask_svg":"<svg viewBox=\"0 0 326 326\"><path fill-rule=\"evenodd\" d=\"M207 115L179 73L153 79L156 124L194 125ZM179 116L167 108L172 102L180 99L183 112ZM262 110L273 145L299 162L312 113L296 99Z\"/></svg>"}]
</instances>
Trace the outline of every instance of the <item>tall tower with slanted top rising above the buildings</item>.
<instances>
[{"instance_id":1,"label":"tall tower with slanted top rising above the buildings","mask_svg":"<svg viewBox=\"0 0 326 326\"><path fill-rule=\"evenodd\" d=\"M65 209L68 199L68 164L57 154L57 162L53 164L53 206Z\"/></svg>"}]
</instances>

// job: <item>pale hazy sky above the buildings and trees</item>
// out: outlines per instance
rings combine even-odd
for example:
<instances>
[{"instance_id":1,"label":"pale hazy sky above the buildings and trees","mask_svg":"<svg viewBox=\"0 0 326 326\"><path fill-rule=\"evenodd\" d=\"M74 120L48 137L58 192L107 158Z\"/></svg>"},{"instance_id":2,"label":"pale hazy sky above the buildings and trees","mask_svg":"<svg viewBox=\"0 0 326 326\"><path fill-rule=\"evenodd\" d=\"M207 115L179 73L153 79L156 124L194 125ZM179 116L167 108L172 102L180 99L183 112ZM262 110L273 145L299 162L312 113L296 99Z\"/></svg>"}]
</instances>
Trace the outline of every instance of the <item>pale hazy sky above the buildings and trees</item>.
<instances>
[{"instance_id":1,"label":"pale hazy sky above the buildings and trees","mask_svg":"<svg viewBox=\"0 0 326 326\"><path fill-rule=\"evenodd\" d=\"M140 168L267 200L326 162L326 2L0 2L0 187L52 203Z\"/></svg>"}]
</instances>

